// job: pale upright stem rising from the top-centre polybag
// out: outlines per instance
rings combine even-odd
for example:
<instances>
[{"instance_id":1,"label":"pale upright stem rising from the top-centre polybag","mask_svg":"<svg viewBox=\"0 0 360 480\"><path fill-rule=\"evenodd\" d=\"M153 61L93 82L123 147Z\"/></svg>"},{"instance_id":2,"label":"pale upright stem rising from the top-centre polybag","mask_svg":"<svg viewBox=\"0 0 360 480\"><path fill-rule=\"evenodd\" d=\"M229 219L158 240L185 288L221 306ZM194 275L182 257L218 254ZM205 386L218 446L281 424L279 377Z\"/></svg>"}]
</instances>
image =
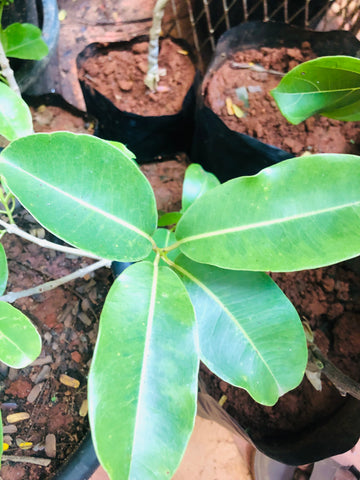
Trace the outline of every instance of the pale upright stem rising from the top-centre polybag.
<instances>
[{"instance_id":1,"label":"pale upright stem rising from the top-centre polybag","mask_svg":"<svg viewBox=\"0 0 360 480\"><path fill-rule=\"evenodd\" d=\"M157 0L153 10L153 23L149 34L149 55L148 71L144 80L145 85L153 92L156 92L160 79L159 74L159 36L161 33L161 22L164 16L168 0Z\"/></svg>"}]
</instances>

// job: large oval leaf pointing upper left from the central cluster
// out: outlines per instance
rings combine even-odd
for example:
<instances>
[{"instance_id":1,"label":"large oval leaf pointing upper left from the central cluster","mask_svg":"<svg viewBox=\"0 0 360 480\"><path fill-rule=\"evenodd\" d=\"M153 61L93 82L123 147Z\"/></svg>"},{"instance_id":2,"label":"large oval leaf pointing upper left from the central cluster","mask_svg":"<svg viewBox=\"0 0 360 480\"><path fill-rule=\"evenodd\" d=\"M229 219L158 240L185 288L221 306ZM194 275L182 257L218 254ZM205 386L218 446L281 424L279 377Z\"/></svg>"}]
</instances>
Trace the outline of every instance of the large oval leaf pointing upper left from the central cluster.
<instances>
[{"instance_id":1,"label":"large oval leaf pointing upper left from the central cluster","mask_svg":"<svg viewBox=\"0 0 360 480\"><path fill-rule=\"evenodd\" d=\"M0 174L36 219L70 244L123 262L150 253L154 193L138 166L106 141L30 135L3 150Z\"/></svg>"}]
</instances>

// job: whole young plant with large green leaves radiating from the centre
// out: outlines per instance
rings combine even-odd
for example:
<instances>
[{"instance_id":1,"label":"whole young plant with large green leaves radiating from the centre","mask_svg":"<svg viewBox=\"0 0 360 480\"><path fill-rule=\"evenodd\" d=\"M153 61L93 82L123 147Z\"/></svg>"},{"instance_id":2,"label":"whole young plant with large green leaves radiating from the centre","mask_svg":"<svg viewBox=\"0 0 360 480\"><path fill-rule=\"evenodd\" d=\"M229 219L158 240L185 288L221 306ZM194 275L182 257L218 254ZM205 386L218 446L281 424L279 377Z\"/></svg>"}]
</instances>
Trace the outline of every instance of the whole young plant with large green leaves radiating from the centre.
<instances>
[{"instance_id":1,"label":"whole young plant with large green leaves radiating from the centre","mask_svg":"<svg viewBox=\"0 0 360 480\"><path fill-rule=\"evenodd\" d=\"M0 112L1 126L7 191L73 251L133 263L105 300L88 382L92 438L112 480L171 478L194 424L200 360L265 405L301 382L304 330L265 272L360 253L359 157L295 158L222 185L191 165L181 211L159 228L124 146L26 133L24 103L15 121Z\"/></svg>"}]
</instances>

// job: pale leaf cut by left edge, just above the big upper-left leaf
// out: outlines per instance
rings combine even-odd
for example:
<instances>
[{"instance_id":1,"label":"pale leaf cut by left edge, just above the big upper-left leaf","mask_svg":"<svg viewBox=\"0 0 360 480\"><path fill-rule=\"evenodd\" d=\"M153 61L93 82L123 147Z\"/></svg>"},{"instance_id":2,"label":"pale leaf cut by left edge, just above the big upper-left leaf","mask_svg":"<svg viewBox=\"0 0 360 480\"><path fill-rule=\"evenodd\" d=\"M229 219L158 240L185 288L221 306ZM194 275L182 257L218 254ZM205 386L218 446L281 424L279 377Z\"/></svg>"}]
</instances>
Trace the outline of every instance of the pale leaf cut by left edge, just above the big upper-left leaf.
<instances>
[{"instance_id":1,"label":"pale leaf cut by left edge, just above the big upper-left leaf","mask_svg":"<svg viewBox=\"0 0 360 480\"><path fill-rule=\"evenodd\" d=\"M11 141L32 132L29 107L11 88L0 82L0 135Z\"/></svg>"}]
</instances>

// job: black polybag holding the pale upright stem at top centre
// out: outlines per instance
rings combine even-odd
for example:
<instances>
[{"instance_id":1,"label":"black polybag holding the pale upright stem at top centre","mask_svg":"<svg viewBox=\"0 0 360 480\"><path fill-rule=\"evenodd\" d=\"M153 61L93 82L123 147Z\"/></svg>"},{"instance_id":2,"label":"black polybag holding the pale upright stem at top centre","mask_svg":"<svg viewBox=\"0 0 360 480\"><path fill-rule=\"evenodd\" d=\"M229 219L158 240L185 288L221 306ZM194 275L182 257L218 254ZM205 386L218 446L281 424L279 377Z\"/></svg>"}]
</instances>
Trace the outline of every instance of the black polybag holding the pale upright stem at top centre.
<instances>
[{"instance_id":1,"label":"black polybag holding the pale upright stem at top centre","mask_svg":"<svg viewBox=\"0 0 360 480\"><path fill-rule=\"evenodd\" d=\"M179 46L189 51L189 47L180 40L174 40ZM134 38L130 42L111 44L92 43L85 47L77 57L77 67L96 53L108 49L131 49L134 43L148 41L147 36ZM191 58L192 55L190 55ZM193 59L195 62L195 59ZM193 85L187 92L180 112L174 115L158 117L142 116L118 109L111 100L96 89L79 79L87 112L98 119L95 135L106 140L124 143L136 155L138 163L153 162L177 152L189 153L194 131L195 112L195 77Z\"/></svg>"}]
</instances>

